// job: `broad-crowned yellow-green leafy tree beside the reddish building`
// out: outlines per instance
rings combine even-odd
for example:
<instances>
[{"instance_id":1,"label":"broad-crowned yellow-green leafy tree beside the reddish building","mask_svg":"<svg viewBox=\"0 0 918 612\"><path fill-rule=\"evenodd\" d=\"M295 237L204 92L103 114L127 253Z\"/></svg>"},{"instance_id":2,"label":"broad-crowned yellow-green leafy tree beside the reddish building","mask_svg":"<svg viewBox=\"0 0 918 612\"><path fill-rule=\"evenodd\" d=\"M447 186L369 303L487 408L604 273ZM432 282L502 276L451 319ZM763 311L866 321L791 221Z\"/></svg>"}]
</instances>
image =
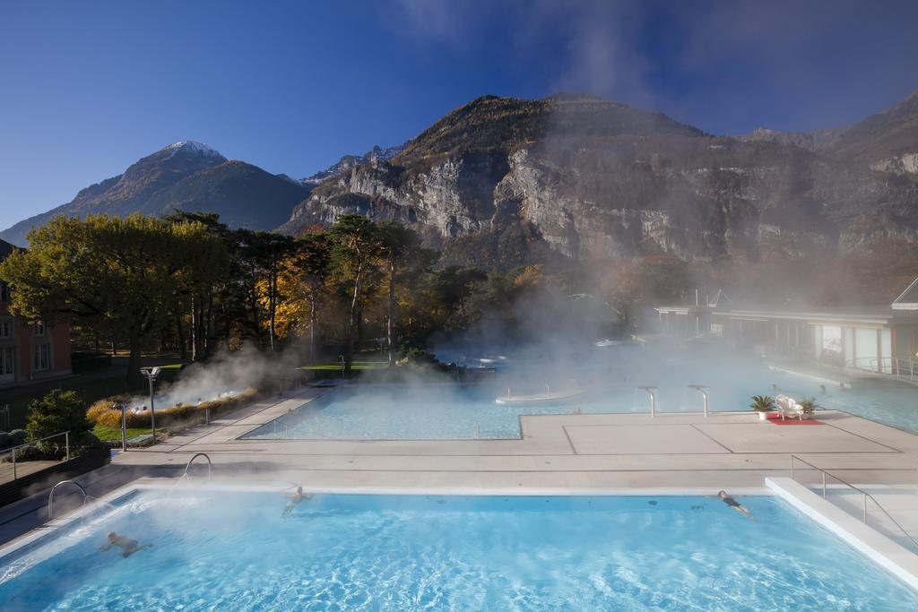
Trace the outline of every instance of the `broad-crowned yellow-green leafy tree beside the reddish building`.
<instances>
[{"instance_id":1,"label":"broad-crowned yellow-green leafy tree beside the reddish building","mask_svg":"<svg viewBox=\"0 0 918 612\"><path fill-rule=\"evenodd\" d=\"M188 265L182 253L209 239L200 224L142 215L55 217L29 232L29 250L3 261L0 276L13 289L13 314L121 330L130 350L127 375L138 378L143 342L159 329Z\"/></svg>"}]
</instances>

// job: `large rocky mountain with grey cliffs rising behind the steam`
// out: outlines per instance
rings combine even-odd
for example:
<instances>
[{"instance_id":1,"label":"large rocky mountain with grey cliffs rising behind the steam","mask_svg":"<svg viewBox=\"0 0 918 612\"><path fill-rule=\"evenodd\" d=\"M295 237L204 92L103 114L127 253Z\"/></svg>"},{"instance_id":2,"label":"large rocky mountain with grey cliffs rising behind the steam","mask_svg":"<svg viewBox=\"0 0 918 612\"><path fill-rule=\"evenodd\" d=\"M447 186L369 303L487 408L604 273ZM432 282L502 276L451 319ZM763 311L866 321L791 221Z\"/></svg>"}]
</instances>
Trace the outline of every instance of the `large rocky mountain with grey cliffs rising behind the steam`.
<instances>
[{"instance_id":1,"label":"large rocky mountain with grey cliffs rising behind the steam","mask_svg":"<svg viewBox=\"0 0 918 612\"><path fill-rule=\"evenodd\" d=\"M912 98L903 105L918 106ZM892 111L868 128L731 138L597 98L486 96L392 159L325 180L281 230L349 212L397 218L448 257L473 261L455 251L508 232L599 261L658 252L757 260L918 239L909 157L918 132L903 128L918 113ZM512 253L496 263L527 258L525 245Z\"/></svg>"}]
</instances>

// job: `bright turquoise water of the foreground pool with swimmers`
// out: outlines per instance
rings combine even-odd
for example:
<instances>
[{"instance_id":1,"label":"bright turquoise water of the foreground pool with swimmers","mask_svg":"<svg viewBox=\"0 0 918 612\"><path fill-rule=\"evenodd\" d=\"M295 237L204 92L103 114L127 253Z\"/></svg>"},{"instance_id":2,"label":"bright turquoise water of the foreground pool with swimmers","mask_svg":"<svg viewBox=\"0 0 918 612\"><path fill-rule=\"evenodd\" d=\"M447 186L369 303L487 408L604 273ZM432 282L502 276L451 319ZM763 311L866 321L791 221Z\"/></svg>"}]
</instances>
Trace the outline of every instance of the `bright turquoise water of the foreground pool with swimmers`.
<instances>
[{"instance_id":1,"label":"bright turquoise water of the foreground pool with swimmers","mask_svg":"<svg viewBox=\"0 0 918 612\"><path fill-rule=\"evenodd\" d=\"M142 492L2 560L4 610L914 610L777 498ZM100 552L115 530L151 543Z\"/></svg>"}]
</instances>

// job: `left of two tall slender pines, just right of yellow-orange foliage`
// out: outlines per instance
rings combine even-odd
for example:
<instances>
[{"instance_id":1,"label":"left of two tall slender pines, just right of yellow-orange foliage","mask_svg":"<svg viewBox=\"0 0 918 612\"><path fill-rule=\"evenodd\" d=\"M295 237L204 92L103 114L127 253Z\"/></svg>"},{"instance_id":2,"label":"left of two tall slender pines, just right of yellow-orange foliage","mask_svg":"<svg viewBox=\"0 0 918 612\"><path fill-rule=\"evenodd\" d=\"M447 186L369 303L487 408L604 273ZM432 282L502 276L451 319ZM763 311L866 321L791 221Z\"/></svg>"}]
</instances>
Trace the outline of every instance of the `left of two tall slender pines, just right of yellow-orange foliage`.
<instances>
[{"instance_id":1,"label":"left of two tall slender pines, just right of yellow-orange foliage","mask_svg":"<svg viewBox=\"0 0 918 612\"><path fill-rule=\"evenodd\" d=\"M351 308L344 332L344 374L351 373L353 364L353 333L357 317L363 308L361 302L364 274L375 265L381 255L381 245L376 227L361 215L342 215L330 229L334 240L332 250L344 278L353 283Z\"/></svg>"}]
</instances>

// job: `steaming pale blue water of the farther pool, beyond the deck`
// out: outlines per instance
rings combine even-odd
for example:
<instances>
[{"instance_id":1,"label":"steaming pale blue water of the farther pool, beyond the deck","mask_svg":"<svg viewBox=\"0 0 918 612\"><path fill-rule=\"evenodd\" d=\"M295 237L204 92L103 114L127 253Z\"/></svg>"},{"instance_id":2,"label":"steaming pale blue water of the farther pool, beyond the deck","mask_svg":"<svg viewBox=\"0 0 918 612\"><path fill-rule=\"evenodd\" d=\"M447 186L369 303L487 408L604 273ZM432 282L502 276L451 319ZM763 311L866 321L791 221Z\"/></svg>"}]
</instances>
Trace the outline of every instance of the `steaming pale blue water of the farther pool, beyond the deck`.
<instances>
[{"instance_id":1,"label":"steaming pale blue water of the farther pool, beyond the deck","mask_svg":"<svg viewBox=\"0 0 918 612\"><path fill-rule=\"evenodd\" d=\"M559 373L556 365L509 362L492 384L459 386L419 384L398 387L356 387L331 391L245 438L329 440L474 440L514 439L521 435L521 415L574 412L622 413L650 410L649 395L638 385L657 387L656 409L700 411L701 395L689 384L705 384L713 411L748 409L752 395L783 393L797 399L813 397L819 406L846 410L893 427L918 433L918 388L907 384L859 381L850 390L822 388L812 379L771 372L762 362L697 353L660 355L644 351L592 356L576 375ZM545 374L541 372L550 372ZM543 393L550 382L557 391L574 386L584 395L558 403L499 405L495 399L514 394Z\"/></svg>"}]
</instances>

